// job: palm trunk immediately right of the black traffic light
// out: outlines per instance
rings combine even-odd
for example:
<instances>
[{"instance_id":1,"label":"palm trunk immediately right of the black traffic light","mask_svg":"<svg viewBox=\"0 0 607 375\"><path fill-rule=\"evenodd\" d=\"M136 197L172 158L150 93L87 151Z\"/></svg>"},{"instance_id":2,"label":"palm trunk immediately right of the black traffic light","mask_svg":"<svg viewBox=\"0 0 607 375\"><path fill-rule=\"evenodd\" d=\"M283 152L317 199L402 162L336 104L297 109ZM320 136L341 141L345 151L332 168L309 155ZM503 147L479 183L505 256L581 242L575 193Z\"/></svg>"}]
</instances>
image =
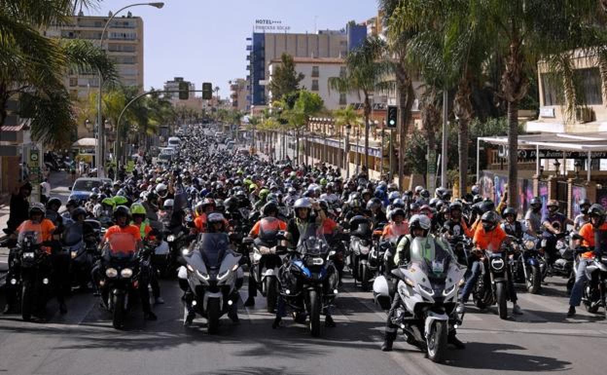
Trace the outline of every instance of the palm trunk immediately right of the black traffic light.
<instances>
[{"instance_id":1,"label":"palm trunk immediately right of the black traffic light","mask_svg":"<svg viewBox=\"0 0 607 375\"><path fill-rule=\"evenodd\" d=\"M398 160L397 163L394 163L393 166L398 170L398 187L399 189L405 190L402 185L402 176L405 173L405 163L402 159L402 156L405 154L405 146L407 145L407 134L409 133L409 123L411 122L411 108L413 106L413 101L415 100L415 91L413 91L413 83L409 78L409 75L406 72L400 72L400 74L396 74L396 84L398 91L398 112L399 112L399 121L400 124L398 126L398 137L400 139L399 150L398 150ZM395 140L396 137L393 137L391 140ZM395 157L394 155L390 155L390 157ZM397 167L398 165L398 167ZM394 173L394 171L391 171Z\"/></svg>"}]
</instances>

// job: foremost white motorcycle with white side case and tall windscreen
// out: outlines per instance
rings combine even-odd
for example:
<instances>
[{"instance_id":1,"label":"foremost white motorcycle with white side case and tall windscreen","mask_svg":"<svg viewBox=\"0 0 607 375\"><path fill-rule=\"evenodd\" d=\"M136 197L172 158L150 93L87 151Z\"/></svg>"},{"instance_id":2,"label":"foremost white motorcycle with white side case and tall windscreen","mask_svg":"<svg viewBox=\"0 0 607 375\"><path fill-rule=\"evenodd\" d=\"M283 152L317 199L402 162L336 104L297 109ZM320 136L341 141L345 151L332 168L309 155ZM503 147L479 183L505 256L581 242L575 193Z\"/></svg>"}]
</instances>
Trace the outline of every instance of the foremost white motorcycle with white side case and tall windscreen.
<instances>
[{"instance_id":1,"label":"foremost white motorcycle with white side case and tall windscreen","mask_svg":"<svg viewBox=\"0 0 607 375\"><path fill-rule=\"evenodd\" d=\"M418 237L410 246L412 260L392 270L398 280L399 303L390 319L405 332L408 343L425 349L433 362L441 362L446 354L449 331L462 322L463 316L456 313L456 305L465 269L434 241ZM413 256L422 250L434 253L433 260ZM390 309L393 292L384 276L373 282L373 295L382 309Z\"/></svg>"}]
</instances>

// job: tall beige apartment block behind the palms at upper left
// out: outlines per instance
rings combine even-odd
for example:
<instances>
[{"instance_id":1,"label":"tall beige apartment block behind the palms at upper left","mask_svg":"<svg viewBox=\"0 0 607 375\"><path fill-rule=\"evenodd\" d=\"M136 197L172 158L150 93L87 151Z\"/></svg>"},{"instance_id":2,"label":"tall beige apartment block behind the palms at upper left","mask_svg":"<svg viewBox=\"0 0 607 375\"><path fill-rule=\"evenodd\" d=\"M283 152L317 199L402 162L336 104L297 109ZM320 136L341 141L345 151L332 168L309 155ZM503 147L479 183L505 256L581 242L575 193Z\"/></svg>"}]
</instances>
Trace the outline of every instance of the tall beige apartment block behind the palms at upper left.
<instances>
[{"instance_id":1,"label":"tall beige apartment block behind the palms at upper left","mask_svg":"<svg viewBox=\"0 0 607 375\"><path fill-rule=\"evenodd\" d=\"M72 16L68 24L52 26L44 35L49 38L85 39L99 44L101 32L110 16L85 16L80 12L78 16ZM131 12L113 19L106 30L103 48L117 64L120 83L143 90L143 19L133 16ZM72 97L86 98L91 92L98 91L97 72L70 69L66 87Z\"/></svg>"}]
</instances>

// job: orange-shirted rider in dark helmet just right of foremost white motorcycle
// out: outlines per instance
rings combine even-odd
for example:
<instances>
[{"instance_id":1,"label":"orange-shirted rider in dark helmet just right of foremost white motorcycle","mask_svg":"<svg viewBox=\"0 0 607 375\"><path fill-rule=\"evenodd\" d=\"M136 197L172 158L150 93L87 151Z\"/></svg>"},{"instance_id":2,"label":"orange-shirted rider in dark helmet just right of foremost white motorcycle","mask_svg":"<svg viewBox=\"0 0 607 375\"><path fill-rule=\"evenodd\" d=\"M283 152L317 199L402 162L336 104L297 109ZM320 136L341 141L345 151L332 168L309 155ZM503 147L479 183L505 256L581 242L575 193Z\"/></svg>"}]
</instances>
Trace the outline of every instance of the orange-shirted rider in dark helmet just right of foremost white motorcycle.
<instances>
[{"instance_id":1,"label":"orange-shirted rider in dark helmet just right of foremost white motorcycle","mask_svg":"<svg viewBox=\"0 0 607 375\"><path fill-rule=\"evenodd\" d=\"M498 252L501 249L501 245L504 241L509 241L506 232L501 229L500 216L495 211L487 211L481 217L481 225L476 229L474 238L472 240L476 247L475 253L479 256L484 254L481 251L487 250L490 252ZM472 293L473 287L476 285L478 277L481 275L481 260L476 260L472 264L472 271L470 277L466 281L461 291L461 302L458 306L458 313L464 311L464 303L468 301L470 293ZM508 269L507 272L510 272ZM514 282L512 281L512 275L508 277L508 289L510 294L510 301L512 301L512 312L514 314L523 314L523 311L517 304L517 291L514 289Z\"/></svg>"}]
</instances>

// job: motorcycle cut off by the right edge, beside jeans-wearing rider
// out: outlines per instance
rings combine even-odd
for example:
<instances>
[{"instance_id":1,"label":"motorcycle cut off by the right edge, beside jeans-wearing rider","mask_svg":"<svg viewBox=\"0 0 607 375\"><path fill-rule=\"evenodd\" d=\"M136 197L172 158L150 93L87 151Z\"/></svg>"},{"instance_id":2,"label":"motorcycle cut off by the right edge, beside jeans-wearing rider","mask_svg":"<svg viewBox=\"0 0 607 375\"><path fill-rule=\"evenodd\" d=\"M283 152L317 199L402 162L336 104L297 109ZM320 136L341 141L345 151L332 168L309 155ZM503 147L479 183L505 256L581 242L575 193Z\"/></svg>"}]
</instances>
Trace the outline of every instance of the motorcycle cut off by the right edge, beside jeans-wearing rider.
<instances>
[{"instance_id":1,"label":"motorcycle cut off by the right edge, beside jeans-wearing rider","mask_svg":"<svg viewBox=\"0 0 607 375\"><path fill-rule=\"evenodd\" d=\"M607 319L607 255L595 256L586 265L582 303L591 314L596 314L603 307L603 315Z\"/></svg>"}]
</instances>

